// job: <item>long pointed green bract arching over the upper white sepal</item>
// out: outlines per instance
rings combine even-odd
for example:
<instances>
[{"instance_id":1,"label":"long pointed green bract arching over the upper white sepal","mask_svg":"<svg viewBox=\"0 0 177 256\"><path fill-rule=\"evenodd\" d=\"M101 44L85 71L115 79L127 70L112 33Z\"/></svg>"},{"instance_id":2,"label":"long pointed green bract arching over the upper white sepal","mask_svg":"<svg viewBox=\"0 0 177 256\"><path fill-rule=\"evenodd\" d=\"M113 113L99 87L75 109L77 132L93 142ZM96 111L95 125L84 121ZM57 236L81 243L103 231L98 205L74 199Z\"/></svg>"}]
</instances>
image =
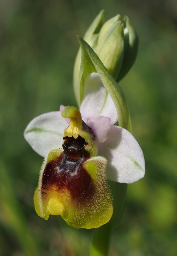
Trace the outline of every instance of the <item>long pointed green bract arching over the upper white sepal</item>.
<instances>
[{"instance_id":1,"label":"long pointed green bract arching over the upper white sepal","mask_svg":"<svg viewBox=\"0 0 177 256\"><path fill-rule=\"evenodd\" d=\"M81 56L81 68L79 76L80 84L80 104L83 97L84 83L88 74L97 72L100 76L104 87L110 94L117 114L119 117L119 126L132 132L131 120L127 100L124 92L120 88L119 84L115 81L112 75L104 67L103 63L93 51L93 49L80 37L78 36L79 43L81 44L82 56Z\"/></svg>"}]
</instances>

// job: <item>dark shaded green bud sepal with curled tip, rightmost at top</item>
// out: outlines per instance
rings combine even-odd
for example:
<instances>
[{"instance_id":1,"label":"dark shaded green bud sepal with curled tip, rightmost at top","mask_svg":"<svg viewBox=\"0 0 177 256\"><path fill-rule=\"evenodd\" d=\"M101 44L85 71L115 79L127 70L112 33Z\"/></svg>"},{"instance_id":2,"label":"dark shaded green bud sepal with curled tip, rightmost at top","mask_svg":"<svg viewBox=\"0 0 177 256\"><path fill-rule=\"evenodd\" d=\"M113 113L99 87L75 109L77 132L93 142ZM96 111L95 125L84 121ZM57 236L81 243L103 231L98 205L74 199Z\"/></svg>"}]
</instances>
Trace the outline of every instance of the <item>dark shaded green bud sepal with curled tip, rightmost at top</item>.
<instances>
[{"instance_id":1,"label":"dark shaded green bud sepal with curled tip, rightmost at top","mask_svg":"<svg viewBox=\"0 0 177 256\"><path fill-rule=\"evenodd\" d=\"M127 16L124 17L124 42L125 42L125 51L124 51L124 60L122 63L121 70L117 77L117 82L119 82L133 66L136 56L138 53L138 36L132 27L130 20Z\"/></svg>"}]
</instances>

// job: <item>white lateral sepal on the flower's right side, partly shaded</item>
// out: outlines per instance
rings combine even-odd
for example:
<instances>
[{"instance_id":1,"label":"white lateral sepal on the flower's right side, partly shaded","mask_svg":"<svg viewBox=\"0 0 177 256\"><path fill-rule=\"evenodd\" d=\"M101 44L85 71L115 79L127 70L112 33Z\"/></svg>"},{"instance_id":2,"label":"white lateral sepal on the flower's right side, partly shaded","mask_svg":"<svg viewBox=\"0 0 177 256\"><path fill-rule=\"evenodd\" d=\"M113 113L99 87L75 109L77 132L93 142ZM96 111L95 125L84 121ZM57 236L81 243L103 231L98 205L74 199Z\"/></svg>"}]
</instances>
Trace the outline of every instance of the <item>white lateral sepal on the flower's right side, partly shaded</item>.
<instances>
[{"instance_id":1,"label":"white lateral sepal on the flower's right side, partly shaded","mask_svg":"<svg viewBox=\"0 0 177 256\"><path fill-rule=\"evenodd\" d=\"M119 126L112 126L104 143L97 143L98 155L108 160L107 179L133 183L144 177L142 149L133 135Z\"/></svg>"}]
</instances>

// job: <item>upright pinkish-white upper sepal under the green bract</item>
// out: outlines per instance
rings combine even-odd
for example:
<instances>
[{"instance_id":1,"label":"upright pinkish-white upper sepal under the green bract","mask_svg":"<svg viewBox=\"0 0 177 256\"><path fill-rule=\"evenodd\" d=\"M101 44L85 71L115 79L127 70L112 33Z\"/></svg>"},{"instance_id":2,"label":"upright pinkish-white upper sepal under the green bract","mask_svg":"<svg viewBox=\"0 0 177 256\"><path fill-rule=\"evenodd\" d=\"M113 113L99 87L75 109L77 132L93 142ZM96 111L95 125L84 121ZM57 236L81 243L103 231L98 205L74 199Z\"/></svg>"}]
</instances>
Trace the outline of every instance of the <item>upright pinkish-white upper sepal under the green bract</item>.
<instances>
[{"instance_id":1,"label":"upright pinkish-white upper sepal under the green bract","mask_svg":"<svg viewBox=\"0 0 177 256\"><path fill-rule=\"evenodd\" d=\"M118 121L113 100L105 89L98 73L89 74L85 80L80 112L83 120L87 119L87 121L99 116L111 118L111 125Z\"/></svg>"}]
</instances>

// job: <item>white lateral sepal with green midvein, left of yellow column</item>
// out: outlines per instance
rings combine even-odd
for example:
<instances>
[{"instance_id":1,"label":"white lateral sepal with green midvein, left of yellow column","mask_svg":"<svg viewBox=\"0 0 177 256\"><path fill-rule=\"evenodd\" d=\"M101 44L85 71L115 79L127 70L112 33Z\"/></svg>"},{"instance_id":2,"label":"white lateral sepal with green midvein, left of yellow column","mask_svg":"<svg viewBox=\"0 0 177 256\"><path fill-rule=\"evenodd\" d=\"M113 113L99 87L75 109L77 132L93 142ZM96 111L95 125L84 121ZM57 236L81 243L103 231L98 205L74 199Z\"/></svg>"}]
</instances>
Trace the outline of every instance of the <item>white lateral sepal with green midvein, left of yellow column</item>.
<instances>
[{"instance_id":1,"label":"white lateral sepal with green midvein, left of yellow column","mask_svg":"<svg viewBox=\"0 0 177 256\"><path fill-rule=\"evenodd\" d=\"M52 148L61 148L67 123L60 111L35 117L25 129L24 137L36 153L45 157Z\"/></svg>"}]
</instances>

